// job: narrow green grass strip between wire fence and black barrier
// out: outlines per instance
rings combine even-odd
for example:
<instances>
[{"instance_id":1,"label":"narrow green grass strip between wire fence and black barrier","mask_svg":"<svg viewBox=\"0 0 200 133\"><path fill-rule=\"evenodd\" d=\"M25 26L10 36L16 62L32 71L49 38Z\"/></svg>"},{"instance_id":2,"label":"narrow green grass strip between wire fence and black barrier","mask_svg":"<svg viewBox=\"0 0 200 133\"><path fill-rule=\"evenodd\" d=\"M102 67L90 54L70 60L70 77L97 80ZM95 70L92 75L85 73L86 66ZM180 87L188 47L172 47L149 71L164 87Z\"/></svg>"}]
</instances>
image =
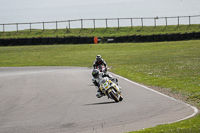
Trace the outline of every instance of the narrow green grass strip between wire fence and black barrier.
<instances>
[{"instance_id":1,"label":"narrow green grass strip between wire fence and black barrier","mask_svg":"<svg viewBox=\"0 0 200 133\"><path fill-rule=\"evenodd\" d=\"M47 30L22 30L14 32L0 32L0 38L31 38L31 37L62 37L62 36L128 36L128 35L152 35L152 34L170 34L170 33L191 33L199 32L200 24L196 25L171 25L171 26L137 26L120 28L84 28L84 29L47 29Z\"/></svg>"}]
</instances>

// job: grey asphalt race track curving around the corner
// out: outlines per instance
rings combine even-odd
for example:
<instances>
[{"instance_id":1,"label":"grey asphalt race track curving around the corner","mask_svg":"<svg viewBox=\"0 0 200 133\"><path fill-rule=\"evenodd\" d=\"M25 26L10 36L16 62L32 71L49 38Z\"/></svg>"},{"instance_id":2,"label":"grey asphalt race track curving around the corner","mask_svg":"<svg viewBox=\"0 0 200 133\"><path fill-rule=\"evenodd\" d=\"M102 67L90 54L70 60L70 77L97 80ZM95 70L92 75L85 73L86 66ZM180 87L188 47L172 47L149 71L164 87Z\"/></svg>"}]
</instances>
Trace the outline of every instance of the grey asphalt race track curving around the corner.
<instances>
[{"instance_id":1,"label":"grey asphalt race track curving around the corner","mask_svg":"<svg viewBox=\"0 0 200 133\"><path fill-rule=\"evenodd\" d=\"M0 132L121 133L180 121L198 112L123 77L118 77L122 102L98 99L91 71L80 67L0 68Z\"/></svg>"}]
</instances>

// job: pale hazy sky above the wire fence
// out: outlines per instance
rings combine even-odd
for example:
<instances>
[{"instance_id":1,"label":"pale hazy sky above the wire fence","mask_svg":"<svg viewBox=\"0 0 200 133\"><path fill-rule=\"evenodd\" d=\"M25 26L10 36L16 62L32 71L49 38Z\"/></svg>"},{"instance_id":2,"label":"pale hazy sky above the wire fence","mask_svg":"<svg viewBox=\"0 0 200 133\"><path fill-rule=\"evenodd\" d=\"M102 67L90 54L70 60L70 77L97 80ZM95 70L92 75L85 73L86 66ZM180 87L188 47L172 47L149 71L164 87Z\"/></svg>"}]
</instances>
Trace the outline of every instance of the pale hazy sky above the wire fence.
<instances>
[{"instance_id":1,"label":"pale hazy sky above the wire fence","mask_svg":"<svg viewBox=\"0 0 200 133\"><path fill-rule=\"evenodd\" d=\"M200 0L0 0L0 24L200 15L199 5Z\"/></svg>"}]
</instances>

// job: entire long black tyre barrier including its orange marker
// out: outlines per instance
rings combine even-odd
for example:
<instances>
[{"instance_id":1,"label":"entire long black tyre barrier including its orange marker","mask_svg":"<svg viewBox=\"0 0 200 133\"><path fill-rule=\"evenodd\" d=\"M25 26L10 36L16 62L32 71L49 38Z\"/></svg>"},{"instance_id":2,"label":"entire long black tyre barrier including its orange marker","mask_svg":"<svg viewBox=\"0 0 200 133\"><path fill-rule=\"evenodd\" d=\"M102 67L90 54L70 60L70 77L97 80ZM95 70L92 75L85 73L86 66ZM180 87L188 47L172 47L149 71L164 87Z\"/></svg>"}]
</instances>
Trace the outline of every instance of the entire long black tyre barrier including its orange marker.
<instances>
[{"instance_id":1,"label":"entire long black tyre barrier including its orange marker","mask_svg":"<svg viewBox=\"0 0 200 133\"><path fill-rule=\"evenodd\" d=\"M119 37L48 37L48 38L16 38L0 39L0 46L18 45L52 45L52 44L94 44L94 43L124 43L124 42L162 42L200 39L200 32L175 33L159 35L132 35Z\"/></svg>"}]
</instances>

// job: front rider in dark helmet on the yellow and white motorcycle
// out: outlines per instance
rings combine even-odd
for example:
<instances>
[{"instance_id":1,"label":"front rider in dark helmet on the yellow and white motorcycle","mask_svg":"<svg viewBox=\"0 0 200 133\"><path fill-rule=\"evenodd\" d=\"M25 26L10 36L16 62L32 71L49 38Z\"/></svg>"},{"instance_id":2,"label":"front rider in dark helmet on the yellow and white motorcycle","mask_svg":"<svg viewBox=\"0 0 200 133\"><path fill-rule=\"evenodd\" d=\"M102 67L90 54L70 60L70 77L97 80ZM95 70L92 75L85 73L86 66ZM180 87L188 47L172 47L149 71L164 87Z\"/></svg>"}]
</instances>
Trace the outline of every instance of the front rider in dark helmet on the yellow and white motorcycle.
<instances>
[{"instance_id":1,"label":"front rider in dark helmet on the yellow and white motorcycle","mask_svg":"<svg viewBox=\"0 0 200 133\"><path fill-rule=\"evenodd\" d=\"M117 78L113 78L113 76L111 74L106 74L106 73L103 73L103 72L99 72L98 69L94 69L92 71L92 76L93 76L92 82L97 88L97 93L96 93L96 97L97 98L100 98L100 97L104 96L104 93L102 93L100 88L99 88L100 87L99 82L103 77L108 77L111 81L115 82L118 85ZM121 87L120 87L120 92L121 92Z\"/></svg>"}]
</instances>

